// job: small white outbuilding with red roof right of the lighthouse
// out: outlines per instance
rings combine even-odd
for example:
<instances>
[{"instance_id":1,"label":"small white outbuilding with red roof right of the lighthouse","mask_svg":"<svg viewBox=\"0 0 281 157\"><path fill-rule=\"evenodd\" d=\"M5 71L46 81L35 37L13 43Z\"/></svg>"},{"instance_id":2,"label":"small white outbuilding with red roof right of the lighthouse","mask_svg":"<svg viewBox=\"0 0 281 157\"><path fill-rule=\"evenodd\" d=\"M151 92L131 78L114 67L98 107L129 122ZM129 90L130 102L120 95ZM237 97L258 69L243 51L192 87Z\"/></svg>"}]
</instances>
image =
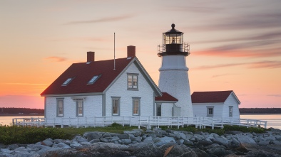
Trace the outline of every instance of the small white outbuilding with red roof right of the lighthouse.
<instances>
[{"instance_id":1,"label":"small white outbuilding with red roof right of the lighthouse","mask_svg":"<svg viewBox=\"0 0 281 157\"><path fill-rule=\"evenodd\" d=\"M193 92L191 99L195 117L240 119L240 101L232 90Z\"/></svg>"}]
</instances>

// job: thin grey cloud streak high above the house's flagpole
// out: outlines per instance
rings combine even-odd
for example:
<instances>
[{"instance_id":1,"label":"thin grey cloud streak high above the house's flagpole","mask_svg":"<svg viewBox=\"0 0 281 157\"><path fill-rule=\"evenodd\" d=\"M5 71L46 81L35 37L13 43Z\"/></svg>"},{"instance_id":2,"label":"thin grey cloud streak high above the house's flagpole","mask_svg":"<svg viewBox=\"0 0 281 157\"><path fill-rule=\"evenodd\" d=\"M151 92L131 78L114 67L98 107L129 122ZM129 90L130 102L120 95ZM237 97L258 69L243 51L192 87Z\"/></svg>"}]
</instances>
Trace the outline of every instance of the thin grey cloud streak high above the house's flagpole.
<instances>
[{"instance_id":1,"label":"thin grey cloud streak high above the house's flagpole","mask_svg":"<svg viewBox=\"0 0 281 157\"><path fill-rule=\"evenodd\" d=\"M127 16L115 16L115 17L99 18L99 19L88 20L88 21L71 21L71 22L68 22L68 23L64 23L63 25L121 21L121 20L124 20L124 19L127 19L127 18L131 18L131 17L133 17L133 16L132 15L127 15Z\"/></svg>"}]
</instances>

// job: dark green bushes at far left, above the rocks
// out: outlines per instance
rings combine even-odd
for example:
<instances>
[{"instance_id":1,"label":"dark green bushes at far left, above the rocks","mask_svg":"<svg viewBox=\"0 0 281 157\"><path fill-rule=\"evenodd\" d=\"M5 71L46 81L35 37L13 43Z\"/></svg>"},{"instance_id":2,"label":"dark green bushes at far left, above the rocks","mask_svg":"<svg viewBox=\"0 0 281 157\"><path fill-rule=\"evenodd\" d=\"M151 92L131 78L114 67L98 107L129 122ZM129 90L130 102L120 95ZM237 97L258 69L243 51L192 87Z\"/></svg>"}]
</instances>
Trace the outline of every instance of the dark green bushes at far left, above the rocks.
<instances>
[{"instance_id":1,"label":"dark green bushes at far left, above the rocks","mask_svg":"<svg viewBox=\"0 0 281 157\"><path fill-rule=\"evenodd\" d=\"M45 139L68 139L69 134L56 128L31 126L0 126L1 144L34 144Z\"/></svg>"}]
</instances>

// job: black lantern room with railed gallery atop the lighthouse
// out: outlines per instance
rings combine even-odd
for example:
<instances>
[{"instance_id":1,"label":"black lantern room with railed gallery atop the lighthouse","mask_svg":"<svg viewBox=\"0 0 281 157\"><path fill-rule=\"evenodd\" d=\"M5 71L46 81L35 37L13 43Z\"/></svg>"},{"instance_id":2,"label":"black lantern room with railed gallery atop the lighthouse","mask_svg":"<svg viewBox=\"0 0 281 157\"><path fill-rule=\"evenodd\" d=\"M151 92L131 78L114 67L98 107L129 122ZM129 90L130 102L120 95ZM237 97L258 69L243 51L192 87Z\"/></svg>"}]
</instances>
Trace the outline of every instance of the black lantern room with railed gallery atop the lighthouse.
<instances>
[{"instance_id":1,"label":"black lantern room with railed gallery atop the lighthouse","mask_svg":"<svg viewBox=\"0 0 281 157\"><path fill-rule=\"evenodd\" d=\"M163 45L158 45L158 56L165 55L185 55L188 56L189 45L183 43L183 32L175 29L175 24L173 23L172 29L163 33Z\"/></svg>"}]
</instances>

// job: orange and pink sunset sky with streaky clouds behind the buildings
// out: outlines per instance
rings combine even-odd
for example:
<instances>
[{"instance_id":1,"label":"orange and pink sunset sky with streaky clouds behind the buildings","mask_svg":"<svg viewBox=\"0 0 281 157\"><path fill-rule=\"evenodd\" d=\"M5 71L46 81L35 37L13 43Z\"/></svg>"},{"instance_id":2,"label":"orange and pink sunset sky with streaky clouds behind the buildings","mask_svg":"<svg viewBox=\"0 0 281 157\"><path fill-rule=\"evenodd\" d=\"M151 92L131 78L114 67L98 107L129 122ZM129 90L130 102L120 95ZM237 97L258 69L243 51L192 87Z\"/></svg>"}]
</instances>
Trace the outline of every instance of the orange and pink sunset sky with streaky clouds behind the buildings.
<instances>
[{"instance_id":1,"label":"orange and pink sunset sky with streaky clouds behind the buildings","mask_svg":"<svg viewBox=\"0 0 281 157\"><path fill-rule=\"evenodd\" d=\"M240 108L281 107L280 0L2 0L0 107L44 109L40 94L72 63L126 58L158 85L171 24L190 44L190 91L233 90Z\"/></svg>"}]
</instances>

